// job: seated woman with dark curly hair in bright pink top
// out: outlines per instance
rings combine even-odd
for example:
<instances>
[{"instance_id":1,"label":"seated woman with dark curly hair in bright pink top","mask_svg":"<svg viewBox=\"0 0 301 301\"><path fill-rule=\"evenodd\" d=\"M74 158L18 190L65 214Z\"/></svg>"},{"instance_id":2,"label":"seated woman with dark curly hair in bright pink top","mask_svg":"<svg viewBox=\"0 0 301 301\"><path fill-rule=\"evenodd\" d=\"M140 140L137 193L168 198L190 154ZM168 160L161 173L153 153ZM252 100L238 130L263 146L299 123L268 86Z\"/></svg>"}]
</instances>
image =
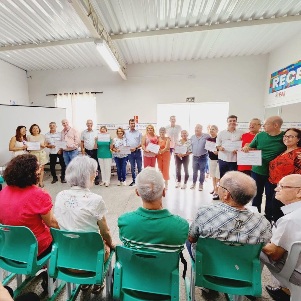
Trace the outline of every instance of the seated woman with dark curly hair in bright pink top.
<instances>
[{"instance_id":1,"label":"seated woman with dark curly hair in bright pink top","mask_svg":"<svg viewBox=\"0 0 301 301\"><path fill-rule=\"evenodd\" d=\"M51 196L36 186L40 172L41 165L35 155L14 157L3 173L7 186L0 192L0 223L25 226L33 231L39 245L38 260L51 252L49 228L59 229L52 210Z\"/></svg>"}]
</instances>

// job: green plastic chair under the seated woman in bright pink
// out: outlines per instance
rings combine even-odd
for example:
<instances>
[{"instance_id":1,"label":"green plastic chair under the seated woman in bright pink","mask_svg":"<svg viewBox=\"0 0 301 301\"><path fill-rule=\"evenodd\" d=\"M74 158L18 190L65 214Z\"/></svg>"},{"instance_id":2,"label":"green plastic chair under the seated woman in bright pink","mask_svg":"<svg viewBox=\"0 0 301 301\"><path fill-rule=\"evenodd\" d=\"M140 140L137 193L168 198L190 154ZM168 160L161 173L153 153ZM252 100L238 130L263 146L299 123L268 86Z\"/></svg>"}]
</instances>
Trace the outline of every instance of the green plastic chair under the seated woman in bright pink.
<instances>
[{"instance_id":1,"label":"green plastic chair under the seated woman in bright pink","mask_svg":"<svg viewBox=\"0 0 301 301\"><path fill-rule=\"evenodd\" d=\"M14 297L33 279L43 265L48 264L50 254L40 260L37 260L37 254L38 242L29 228L0 224L0 267L11 273L3 284L7 284L16 275L17 289L14 291ZM24 281L22 275L26 275ZM64 283L60 285L57 283L54 290L53 282L48 281L48 300L53 300L63 286Z\"/></svg>"}]
</instances>

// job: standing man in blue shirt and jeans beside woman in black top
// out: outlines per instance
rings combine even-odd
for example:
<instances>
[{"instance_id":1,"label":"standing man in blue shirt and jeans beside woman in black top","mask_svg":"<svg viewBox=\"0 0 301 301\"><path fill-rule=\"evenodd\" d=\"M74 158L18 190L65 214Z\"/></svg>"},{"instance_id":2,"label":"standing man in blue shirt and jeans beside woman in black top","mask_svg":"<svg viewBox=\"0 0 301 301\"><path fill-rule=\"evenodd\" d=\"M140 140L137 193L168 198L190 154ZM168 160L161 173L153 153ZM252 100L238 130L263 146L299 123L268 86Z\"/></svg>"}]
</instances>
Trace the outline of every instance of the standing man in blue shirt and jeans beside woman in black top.
<instances>
[{"instance_id":1,"label":"standing man in blue shirt and jeans beside woman in black top","mask_svg":"<svg viewBox=\"0 0 301 301\"><path fill-rule=\"evenodd\" d=\"M203 184L205 180L205 169L207 163L207 150L205 150L205 143L207 139L211 136L209 134L205 134L202 132L203 126L197 124L194 129L195 135L192 135L190 140L192 142L192 169L193 169L193 176L192 176L192 185L190 189L194 189L197 182L197 174L200 171L200 183L199 183L199 190L203 190Z\"/></svg>"}]
</instances>

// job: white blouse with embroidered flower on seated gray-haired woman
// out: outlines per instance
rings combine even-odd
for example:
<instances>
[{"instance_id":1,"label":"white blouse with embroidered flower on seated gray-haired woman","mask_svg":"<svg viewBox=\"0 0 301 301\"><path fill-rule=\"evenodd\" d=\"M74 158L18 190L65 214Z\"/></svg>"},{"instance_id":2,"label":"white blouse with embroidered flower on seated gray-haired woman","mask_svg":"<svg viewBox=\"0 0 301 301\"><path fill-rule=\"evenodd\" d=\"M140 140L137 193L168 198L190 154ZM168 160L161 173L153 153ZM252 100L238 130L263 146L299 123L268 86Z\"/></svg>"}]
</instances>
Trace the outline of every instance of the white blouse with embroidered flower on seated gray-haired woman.
<instances>
[{"instance_id":1,"label":"white blouse with embroidered flower on seated gray-haired woman","mask_svg":"<svg viewBox=\"0 0 301 301\"><path fill-rule=\"evenodd\" d=\"M108 213L102 197L88 188L73 186L55 198L54 215L61 230L99 231L97 221Z\"/></svg>"}]
</instances>

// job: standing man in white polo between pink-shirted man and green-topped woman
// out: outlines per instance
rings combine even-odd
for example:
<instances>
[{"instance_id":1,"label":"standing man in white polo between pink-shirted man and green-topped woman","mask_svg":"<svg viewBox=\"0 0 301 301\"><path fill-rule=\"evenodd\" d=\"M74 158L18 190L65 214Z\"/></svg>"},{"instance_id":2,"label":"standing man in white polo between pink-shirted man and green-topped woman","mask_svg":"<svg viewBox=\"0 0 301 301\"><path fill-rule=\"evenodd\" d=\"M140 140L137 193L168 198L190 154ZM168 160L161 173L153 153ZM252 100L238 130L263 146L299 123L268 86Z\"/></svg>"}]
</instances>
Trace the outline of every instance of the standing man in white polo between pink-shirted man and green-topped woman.
<instances>
[{"instance_id":1,"label":"standing man in white polo between pink-shirted man and green-topped woman","mask_svg":"<svg viewBox=\"0 0 301 301\"><path fill-rule=\"evenodd\" d=\"M95 138L97 138L98 132L93 129L93 121L91 119L87 120L86 125L87 129L82 131L80 138L80 148L83 155L87 154L97 162L98 175L95 178L95 185L99 185L100 166L97 160L97 149L94 148Z\"/></svg>"}]
</instances>

